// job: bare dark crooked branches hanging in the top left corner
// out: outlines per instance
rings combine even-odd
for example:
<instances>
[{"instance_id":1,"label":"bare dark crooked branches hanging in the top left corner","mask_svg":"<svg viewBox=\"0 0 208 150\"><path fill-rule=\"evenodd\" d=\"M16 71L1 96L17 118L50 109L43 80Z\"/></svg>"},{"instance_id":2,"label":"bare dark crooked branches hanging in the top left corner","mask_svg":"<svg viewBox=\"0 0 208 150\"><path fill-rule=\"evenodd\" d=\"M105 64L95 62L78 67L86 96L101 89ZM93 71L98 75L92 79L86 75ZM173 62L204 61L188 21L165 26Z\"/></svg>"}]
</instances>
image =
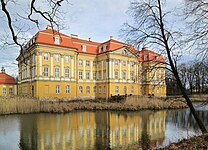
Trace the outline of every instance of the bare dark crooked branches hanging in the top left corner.
<instances>
[{"instance_id":1,"label":"bare dark crooked branches hanging in the top left corner","mask_svg":"<svg viewBox=\"0 0 208 150\"><path fill-rule=\"evenodd\" d=\"M18 1L1 0L0 7L4 16L0 16L0 21L7 22L7 27L9 29L9 34L6 35L6 40L4 40L5 37L0 39L0 42L3 43L2 45L17 45L20 49L20 55L23 56L23 46L25 41L28 40L23 40L23 33L27 32L31 28L31 23L35 24L39 29L40 22L42 21L48 22L52 29L55 27L59 30L60 19L62 19L60 7L64 1L68 3L67 0L44 0L41 1L41 4L43 5L41 7L40 1L37 2L36 0L31 0L28 3L28 8L26 7L27 5L24 5L24 14L20 14L19 12L14 13L15 9L22 10L20 7L22 4L19 4ZM23 23L23 20L30 22L30 24ZM12 39L12 41L10 42L9 39Z\"/></svg>"}]
</instances>

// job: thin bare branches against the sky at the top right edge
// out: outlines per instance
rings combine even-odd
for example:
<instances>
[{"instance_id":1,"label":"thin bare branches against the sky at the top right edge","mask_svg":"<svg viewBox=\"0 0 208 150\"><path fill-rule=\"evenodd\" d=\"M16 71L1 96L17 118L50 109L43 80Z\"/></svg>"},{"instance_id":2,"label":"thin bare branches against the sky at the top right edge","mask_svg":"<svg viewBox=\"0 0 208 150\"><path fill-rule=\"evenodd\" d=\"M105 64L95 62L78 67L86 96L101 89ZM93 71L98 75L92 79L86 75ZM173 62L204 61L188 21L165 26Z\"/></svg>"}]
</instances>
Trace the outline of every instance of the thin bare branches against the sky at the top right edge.
<instances>
[{"instance_id":1,"label":"thin bare branches against the sky at the top right edge","mask_svg":"<svg viewBox=\"0 0 208 150\"><path fill-rule=\"evenodd\" d=\"M198 51L202 60L208 56L208 1L185 0L188 40L191 49Z\"/></svg>"}]
</instances>

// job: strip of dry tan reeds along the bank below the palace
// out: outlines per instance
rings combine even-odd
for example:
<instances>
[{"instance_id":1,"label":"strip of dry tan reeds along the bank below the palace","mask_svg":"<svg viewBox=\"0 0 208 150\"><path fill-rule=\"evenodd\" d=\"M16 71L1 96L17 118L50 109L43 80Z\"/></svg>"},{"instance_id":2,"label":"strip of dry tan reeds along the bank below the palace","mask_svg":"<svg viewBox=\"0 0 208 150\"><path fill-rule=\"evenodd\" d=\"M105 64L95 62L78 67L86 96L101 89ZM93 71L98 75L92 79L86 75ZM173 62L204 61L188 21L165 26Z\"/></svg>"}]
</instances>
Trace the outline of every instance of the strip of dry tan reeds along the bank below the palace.
<instances>
[{"instance_id":1,"label":"strip of dry tan reeds along the bank below the palace","mask_svg":"<svg viewBox=\"0 0 208 150\"><path fill-rule=\"evenodd\" d=\"M184 102L160 98L130 97L128 100L106 102L101 100L38 100L28 97L0 97L0 114L14 113L64 113L73 110L118 110L138 111L143 109L179 109L186 107Z\"/></svg>"}]
</instances>

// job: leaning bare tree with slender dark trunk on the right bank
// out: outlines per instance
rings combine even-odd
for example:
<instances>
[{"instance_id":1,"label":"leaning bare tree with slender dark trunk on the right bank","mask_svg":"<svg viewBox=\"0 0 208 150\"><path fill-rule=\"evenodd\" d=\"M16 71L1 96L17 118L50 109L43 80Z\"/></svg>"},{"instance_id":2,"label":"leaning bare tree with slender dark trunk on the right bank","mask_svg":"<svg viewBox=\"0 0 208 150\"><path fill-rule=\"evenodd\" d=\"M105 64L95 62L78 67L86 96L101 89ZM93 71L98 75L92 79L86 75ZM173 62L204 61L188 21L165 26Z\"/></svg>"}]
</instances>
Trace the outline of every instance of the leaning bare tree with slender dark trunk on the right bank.
<instances>
[{"instance_id":1,"label":"leaning bare tree with slender dark trunk on the right bank","mask_svg":"<svg viewBox=\"0 0 208 150\"><path fill-rule=\"evenodd\" d=\"M175 55L174 50L178 48L177 39L180 33L171 31L169 22L166 20L170 12L166 12L163 6L164 3L161 3L160 0L139 0L131 2L129 10L134 18L134 25L126 23L124 32L126 33L127 40L133 40L138 47L141 45L151 45L152 47L160 48L163 50L163 53L166 53L170 70L174 74L187 105L202 133L207 133L179 77L176 64L178 55Z\"/></svg>"}]
</instances>

